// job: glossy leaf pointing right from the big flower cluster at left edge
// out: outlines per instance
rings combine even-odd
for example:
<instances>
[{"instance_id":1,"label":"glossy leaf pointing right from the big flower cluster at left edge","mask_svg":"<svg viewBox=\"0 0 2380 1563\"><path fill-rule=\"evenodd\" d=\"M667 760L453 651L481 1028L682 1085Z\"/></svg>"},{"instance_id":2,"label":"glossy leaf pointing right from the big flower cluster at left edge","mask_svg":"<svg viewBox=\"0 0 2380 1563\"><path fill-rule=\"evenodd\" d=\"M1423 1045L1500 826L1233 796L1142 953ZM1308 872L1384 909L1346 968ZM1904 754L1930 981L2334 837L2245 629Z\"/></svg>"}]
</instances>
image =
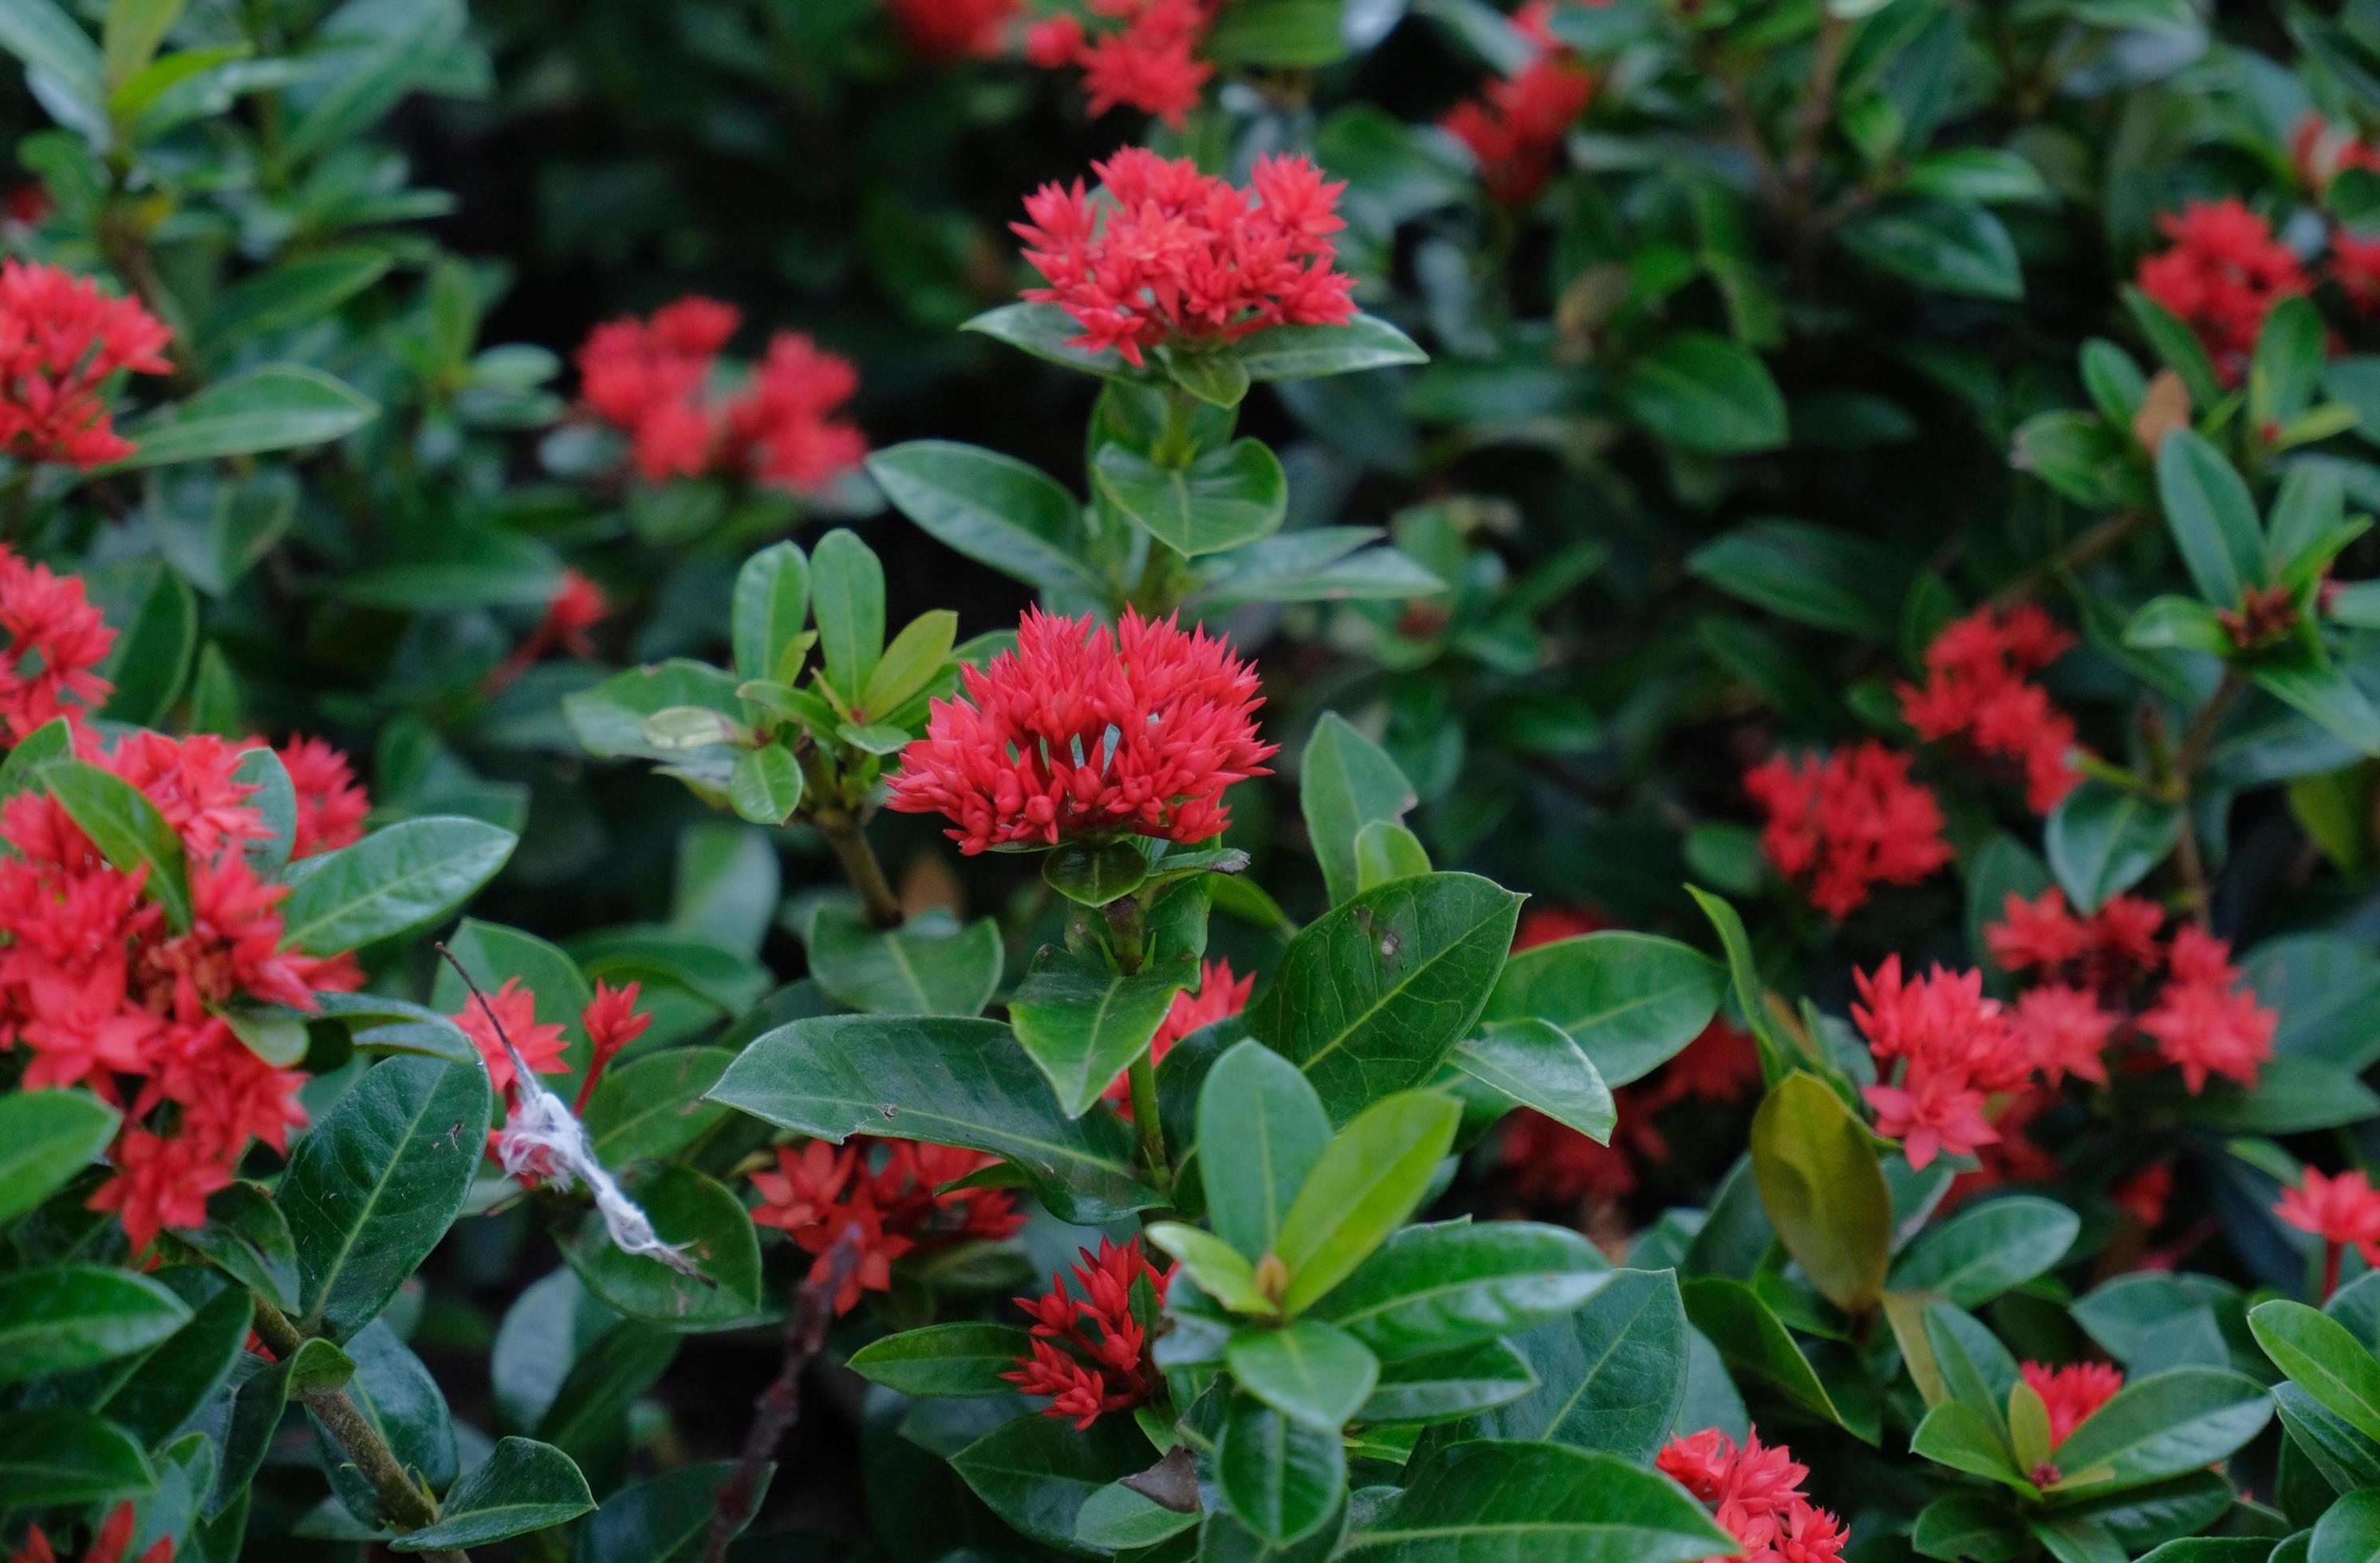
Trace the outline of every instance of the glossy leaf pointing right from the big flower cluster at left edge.
<instances>
[{"instance_id":1,"label":"glossy leaf pointing right from the big flower cluster at left edge","mask_svg":"<svg viewBox=\"0 0 2380 1563\"><path fill-rule=\"evenodd\" d=\"M462 816L386 826L298 864L283 928L298 949L336 954L443 923L495 878L514 845L512 830Z\"/></svg>"}]
</instances>

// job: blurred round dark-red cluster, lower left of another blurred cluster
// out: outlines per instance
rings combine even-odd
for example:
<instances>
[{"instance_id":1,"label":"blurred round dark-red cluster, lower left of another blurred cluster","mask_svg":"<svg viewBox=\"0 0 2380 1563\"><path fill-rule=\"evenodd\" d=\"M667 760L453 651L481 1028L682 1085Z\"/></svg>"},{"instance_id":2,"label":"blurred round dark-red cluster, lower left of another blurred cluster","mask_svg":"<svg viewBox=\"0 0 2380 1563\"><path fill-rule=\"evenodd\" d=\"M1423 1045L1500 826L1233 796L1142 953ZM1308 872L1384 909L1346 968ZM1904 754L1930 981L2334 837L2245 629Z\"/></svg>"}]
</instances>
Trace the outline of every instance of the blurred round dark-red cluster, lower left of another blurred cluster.
<instances>
[{"instance_id":1,"label":"blurred round dark-red cluster, lower left of another blurred cluster","mask_svg":"<svg viewBox=\"0 0 2380 1563\"><path fill-rule=\"evenodd\" d=\"M1766 814L1761 852L1787 878L1809 878L1809 899L1849 916L1871 885L1916 885L1949 861L1942 806L1909 780L1909 757L1873 737L1856 749L1745 771L1745 792Z\"/></svg>"}]
</instances>

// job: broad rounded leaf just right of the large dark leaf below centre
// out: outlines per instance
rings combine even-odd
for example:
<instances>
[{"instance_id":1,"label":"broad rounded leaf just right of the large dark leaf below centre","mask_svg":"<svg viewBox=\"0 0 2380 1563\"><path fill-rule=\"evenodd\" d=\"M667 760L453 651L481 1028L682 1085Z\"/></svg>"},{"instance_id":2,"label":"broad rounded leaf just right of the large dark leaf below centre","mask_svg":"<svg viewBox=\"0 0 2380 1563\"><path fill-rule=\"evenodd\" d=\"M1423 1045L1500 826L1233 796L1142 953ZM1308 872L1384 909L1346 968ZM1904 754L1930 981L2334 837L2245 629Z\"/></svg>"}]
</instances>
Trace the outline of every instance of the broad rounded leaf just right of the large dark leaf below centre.
<instances>
[{"instance_id":1,"label":"broad rounded leaf just right of the large dark leaf below centre","mask_svg":"<svg viewBox=\"0 0 2380 1563\"><path fill-rule=\"evenodd\" d=\"M1504 963L1485 1018L1552 1021L1604 1085L1640 1080L1718 1013L1728 973L1678 940L1590 933L1523 949Z\"/></svg>"}]
</instances>

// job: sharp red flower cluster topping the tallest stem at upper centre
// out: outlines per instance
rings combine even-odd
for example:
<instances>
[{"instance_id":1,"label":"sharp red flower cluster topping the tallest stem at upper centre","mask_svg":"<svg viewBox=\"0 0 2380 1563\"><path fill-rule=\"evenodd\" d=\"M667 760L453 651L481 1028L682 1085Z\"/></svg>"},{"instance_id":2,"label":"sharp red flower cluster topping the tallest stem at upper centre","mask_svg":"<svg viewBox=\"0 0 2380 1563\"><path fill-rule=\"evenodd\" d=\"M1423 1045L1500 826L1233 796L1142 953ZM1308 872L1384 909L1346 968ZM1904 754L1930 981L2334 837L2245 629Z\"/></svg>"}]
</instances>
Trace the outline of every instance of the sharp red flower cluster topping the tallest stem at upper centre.
<instances>
[{"instance_id":1,"label":"sharp red flower cluster topping the tallest stem at upper centre","mask_svg":"<svg viewBox=\"0 0 2380 1563\"><path fill-rule=\"evenodd\" d=\"M1026 259L1050 283L1026 288L1059 305L1083 335L1076 347L1114 347L1128 364L1145 347L1238 343L1266 326L1345 326L1354 278L1340 274L1330 236L1345 183L1326 183L1304 157L1259 157L1247 188L1197 171L1188 157L1126 147L1083 181L1047 183L1026 197L1031 221L1009 224ZM1254 195L1254 200L1250 200Z\"/></svg>"}]
</instances>

